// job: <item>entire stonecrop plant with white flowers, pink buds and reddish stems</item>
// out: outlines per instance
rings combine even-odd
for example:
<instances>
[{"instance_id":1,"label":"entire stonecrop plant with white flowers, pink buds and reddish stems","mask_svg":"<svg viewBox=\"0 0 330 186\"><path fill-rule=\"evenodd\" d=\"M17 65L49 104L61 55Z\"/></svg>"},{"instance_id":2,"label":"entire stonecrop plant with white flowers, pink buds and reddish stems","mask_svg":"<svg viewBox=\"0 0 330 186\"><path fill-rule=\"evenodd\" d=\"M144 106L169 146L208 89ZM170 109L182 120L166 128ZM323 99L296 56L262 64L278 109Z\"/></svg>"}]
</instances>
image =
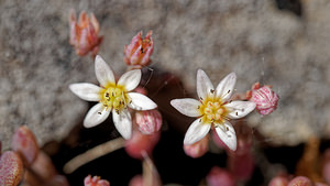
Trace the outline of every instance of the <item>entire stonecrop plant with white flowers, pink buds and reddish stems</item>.
<instances>
[{"instance_id":1,"label":"entire stonecrop plant with white flowers, pink buds and reddish stems","mask_svg":"<svg viewBox=\"0 0 330 186\"><path fill-rule=\"evenodd\" d=\"M102 42L99 31L100 25L94 13L88 17L82 11L77 20L76 12L74 10L69 12L69 44L74 46L79 56L88 53L96 56L95 73L99 83L99 85L70 84L69 89L84 100L97 102L84 119L85 128L96 127L112 114L114 127L122 138L112 139L79 154L67 162L63 171L70 174L79 166L106 153L124 147L130 157L142 162L143 168L142 175L133 177L129 185L161 186L161 176L152 161L152 155L153 150L161 141L162 130L168 128L170 119L166 121L165 117L168 116L162 116L163 110L158 110L157 105L147 97L146 84L150 79L141 83L142 68L152 63L153 32L148 31L143 39L141 31L130 44L124 46L123 62L130 70L116 78L111 67L101 56L97 55ZM183 149L187 156L193 158L204 156L212 142L229 154L227 168L213 166L206 175L205 182L209 186L235 186L238 183L242 185L241 183L251 177L255 166L251 150L253 134L250 132L251 128L246 121L241 119L253 110L266 116L277 108L279 97L273 91L272 86L261 87L256 83L243 96L242 94L233 95L235 83L235 73L230 73L217 87L213 87L208 75L202 69L197 69L198 98L173 99L169 102L180 113L196 118L188 128L183 142ZM140 86L140 84L144 85ZM166 102L168 103L168 101ZM232 124L230 120L233 119L240 120ZM210 130L213 130L211 134L209 134ZM36 186L69 185L66 177L57 173L50 156L40 149L36 141L32 131L25 125L19 128L13 134L12 151L1 153L0 141L0 186L16 186L20 183ZM323 177L330 183L330 174L328 174L330 172L330 150L326 153L323 161L328 165L323 167ZM297 177L290 183L289 179L289 177L278 176L271 180L270 186L312 184L307 177ZM82 183L85 186L110 186L110 182L101 179L100 176L91 176L91 174L86 175Z\"/></svg>"}]
</instances>

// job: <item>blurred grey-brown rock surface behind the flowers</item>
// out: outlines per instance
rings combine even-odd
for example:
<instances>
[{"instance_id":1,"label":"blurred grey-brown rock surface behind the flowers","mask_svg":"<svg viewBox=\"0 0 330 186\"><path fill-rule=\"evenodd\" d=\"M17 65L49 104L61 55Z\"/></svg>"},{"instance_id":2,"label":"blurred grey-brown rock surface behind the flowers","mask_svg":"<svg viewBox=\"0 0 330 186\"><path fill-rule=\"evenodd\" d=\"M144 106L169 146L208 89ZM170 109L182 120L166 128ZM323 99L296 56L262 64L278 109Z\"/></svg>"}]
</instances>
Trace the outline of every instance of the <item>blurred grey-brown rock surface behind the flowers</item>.
<instances>
[{"instance_id":1,"label":"blurred grey-brown rock surface behind the flowers","mask_svg":"<svg viewBox=\"0 0 330 186\"><path fill-rule=\"evenodd\" d=\"M0 140L22 124L40 144L61 140L88 103L72 83L97 83L94 59L68 44L69 9L94 12L105 36L99 54L118 74L123 47L153 30L153 68L180 76L195 94L196 70L213 84L230 72L237 91L273 85L278 109L248 119L272 144L330 136L330 1L328 0L0 0ZM153 78L153 77L151 77ZM164 83L165 84L165 83Z\"/></svg>"}]
</instances>

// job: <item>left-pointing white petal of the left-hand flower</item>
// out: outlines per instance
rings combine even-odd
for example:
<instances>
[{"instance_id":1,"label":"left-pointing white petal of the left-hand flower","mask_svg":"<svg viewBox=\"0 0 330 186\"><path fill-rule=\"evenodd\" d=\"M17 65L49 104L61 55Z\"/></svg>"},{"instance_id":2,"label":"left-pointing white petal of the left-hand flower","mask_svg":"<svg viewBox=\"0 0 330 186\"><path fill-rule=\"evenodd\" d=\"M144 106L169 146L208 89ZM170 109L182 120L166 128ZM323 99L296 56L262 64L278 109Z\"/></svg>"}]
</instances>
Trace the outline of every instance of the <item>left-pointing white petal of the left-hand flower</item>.
<instances>
[{"instance_id":1,"label":"left-pointing white petal of the left-hand flower","mask_svg":"<svg viewBox=\"0 0 330 186\"><path fill-rule=\"evenodd\" d=\"M69 85L69 89L84 100L99 101L100 100L99 92L101 91L102 88L92 84L80 83L80 84Z\"/></svg>"}]
</instances>

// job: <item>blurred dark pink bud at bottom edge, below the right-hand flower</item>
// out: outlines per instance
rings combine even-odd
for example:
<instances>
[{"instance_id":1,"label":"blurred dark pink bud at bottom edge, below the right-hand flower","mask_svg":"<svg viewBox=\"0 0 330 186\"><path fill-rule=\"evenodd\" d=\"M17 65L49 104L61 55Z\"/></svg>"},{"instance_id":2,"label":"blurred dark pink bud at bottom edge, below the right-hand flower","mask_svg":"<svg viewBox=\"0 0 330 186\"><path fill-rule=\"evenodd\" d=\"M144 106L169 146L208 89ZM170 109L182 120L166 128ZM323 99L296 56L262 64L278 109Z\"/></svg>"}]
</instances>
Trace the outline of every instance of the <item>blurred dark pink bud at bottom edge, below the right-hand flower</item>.
<instances>
[{"instance_id":1,"label":"blurred dark pink bud at bottom edge, below the right-hand flower","mask_svg":"<svg viewBox=\"0 0 330 186\"><path fill-rule=\"evenodd\" d=\"M206 177L209 186L235 186L235 179L230 172L213 166Z\"/></svg>"}]
</instances>

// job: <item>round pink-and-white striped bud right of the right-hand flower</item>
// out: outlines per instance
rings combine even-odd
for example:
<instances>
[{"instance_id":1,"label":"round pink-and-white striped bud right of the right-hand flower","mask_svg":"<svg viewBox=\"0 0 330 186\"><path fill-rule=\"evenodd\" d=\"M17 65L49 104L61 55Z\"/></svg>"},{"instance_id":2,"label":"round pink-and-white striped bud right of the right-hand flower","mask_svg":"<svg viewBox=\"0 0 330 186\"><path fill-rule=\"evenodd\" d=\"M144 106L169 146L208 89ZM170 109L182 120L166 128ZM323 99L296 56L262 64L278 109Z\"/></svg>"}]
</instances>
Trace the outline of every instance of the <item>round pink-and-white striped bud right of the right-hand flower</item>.
<instances>
[{"instance_id":1,"label":"round pink-and-white striped bud right of the right-hand flower","mask_svg":"<svg viewBox=\"0 0 330 186\"><path fill-rule=\"evenodd\" d=\"M248 91L246 97L250 101L256 103L255 109L264 116L272 113L278 102L278 96L272 90L271 86L260 88L258 83L252 86L252 90Z\"/></svg>"}]
</instances>

